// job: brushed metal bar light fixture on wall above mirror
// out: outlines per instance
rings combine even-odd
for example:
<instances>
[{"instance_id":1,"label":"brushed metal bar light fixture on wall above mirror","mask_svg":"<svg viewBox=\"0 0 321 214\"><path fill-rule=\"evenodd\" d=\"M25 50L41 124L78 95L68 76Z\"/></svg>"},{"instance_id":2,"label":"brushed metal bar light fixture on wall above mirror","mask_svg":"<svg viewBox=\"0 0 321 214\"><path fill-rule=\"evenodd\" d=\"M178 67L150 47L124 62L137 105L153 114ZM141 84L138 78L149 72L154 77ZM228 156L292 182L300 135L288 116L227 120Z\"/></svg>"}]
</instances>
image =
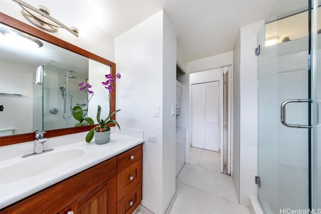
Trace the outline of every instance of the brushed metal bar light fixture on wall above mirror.
<instances>
[{"instance_id":1,"label":"brushed metal bar light fixture on wall above mirror","mask_svg":"<svg viewBox=\"0 0 321 214\"><path fill-rule=\"evenodd\" d=\"M51 17L50 11L46 7L40 5L39 9L37 9L21 0L13 1L22 7L21 13L24 17L37 27L50 32L57 32L58 28L64 28L78 37L79 31L77 28L68 28L66 25Z\"/></svg>"}]
</instances>

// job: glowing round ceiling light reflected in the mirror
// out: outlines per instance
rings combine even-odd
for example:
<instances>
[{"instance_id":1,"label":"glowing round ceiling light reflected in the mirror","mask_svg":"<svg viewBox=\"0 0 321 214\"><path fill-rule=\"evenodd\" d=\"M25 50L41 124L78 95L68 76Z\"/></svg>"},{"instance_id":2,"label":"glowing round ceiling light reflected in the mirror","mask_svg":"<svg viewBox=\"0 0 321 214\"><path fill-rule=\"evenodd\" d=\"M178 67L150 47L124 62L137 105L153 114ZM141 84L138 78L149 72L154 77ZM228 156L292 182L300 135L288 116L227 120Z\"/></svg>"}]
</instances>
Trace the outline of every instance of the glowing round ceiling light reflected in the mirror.
<instances>
[{"instance_id":1,"label":"glowing round ceiling light reflected in the mirror","mask_svg":"<svg viewBox=\"0 0 321 214\"><path fill-rule=\"evenodd\" d=\"M44 44L35 37L15 29L0 28L0 33L3 34L6 39L10 40L11 44L15 44L18 47L41 48L44 46Z\"/></svg>"}]
</instances>

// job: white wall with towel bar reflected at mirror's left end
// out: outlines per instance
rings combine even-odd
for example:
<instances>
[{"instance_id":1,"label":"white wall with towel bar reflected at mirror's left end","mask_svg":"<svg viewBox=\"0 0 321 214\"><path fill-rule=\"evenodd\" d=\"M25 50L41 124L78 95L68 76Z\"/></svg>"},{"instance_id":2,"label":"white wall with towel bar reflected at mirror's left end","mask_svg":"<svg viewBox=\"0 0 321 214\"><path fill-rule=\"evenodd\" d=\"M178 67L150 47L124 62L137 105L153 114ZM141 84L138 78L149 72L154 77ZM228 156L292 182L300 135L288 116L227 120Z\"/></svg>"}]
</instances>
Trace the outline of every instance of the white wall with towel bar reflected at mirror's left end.
<instances>
[{"instance_id":1,"label":"white wall with towel bar reflected at mirror's left end","mask_svg":"<svg viewBox=\"0 0 321 214\"><path fill-rule=\"evenodd\" d=\"M0 130L14 128L13 134L31 132L33 127L33 73L35 72L36 69L32 67L6 61L0 62L0 93L22 95L21 97L0 95L0 105L4 106L4 111L0 112ZM22 118L23 121L21 121Z\"/></svg>"}]
</instances>

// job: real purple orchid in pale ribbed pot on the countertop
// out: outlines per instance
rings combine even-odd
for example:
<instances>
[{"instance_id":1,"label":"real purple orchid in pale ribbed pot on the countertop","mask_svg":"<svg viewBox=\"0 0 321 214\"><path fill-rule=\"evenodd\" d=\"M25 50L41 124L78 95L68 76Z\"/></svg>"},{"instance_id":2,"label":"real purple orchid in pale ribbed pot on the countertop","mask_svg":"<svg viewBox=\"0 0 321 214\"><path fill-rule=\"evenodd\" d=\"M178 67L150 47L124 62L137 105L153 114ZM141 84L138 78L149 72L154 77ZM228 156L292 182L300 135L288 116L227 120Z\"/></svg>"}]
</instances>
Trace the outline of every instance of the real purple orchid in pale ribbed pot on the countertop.
<instances>
[{"instance_id":1,"label":"real purple orchid in pale ribbed pot on the countertop","mask_svg":"<svg viewBox=\"0 0 321 214\"><path fill-rule=\"evenodd\" d=\"M108 143L110 140L110 128L107 126L108 124L115 124L119 130L119 124L116 120L111 120L110 118L116 114L120 109L111 112L111 103L110 103L110 93L113 91L113 83L116 82L116 79L120 79L120 74L117 73L115 75L115 78L112 77L111 74L105 75L106 81L102 82L102 85L105 86L105 88L108 90L108 100L109 100L109 115L105 120L100 118L100 113L101 113L101 107L98 105L98 110L97 110L97 122L98 126L92 128L88 134L86 135L86 142L89 143L92 138L95 136L95 143L96 144L104 144Z\"/></svg>"}]
</instances>

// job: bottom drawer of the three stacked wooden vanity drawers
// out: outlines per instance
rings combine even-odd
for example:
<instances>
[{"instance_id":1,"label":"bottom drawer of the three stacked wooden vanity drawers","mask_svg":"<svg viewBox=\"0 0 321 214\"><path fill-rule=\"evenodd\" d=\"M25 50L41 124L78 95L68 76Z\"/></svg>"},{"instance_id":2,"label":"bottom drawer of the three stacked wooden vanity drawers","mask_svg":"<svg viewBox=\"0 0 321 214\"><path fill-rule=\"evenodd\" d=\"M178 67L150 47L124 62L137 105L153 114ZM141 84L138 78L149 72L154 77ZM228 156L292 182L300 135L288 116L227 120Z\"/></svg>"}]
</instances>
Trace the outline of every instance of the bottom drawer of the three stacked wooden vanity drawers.
<instances>
[{"instance_id":1,"label":"bottom drawer of the three stacked wooden vanity drawers","mask_svg":"<svg viewBox=\"0 0 321 214\"><path fill-rule=\"evenodd\" d=\"M117 203L117 214L132 213L141 201L141 182Z\"/></svg>"}]
</instances>

